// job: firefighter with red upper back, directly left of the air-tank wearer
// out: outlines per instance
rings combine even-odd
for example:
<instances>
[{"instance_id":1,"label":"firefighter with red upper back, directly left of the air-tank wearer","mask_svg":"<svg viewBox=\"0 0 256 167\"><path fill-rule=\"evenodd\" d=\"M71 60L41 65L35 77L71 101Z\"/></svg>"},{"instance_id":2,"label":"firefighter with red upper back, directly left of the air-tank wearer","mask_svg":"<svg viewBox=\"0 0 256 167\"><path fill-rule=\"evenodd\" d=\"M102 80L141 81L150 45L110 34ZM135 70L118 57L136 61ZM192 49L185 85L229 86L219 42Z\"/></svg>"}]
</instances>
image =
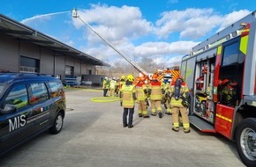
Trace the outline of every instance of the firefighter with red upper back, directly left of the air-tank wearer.
<instances>
[{"instance_id":1,"label":"firefighter with red upper back, directly left of the air-tank wearer","mask_svg":"<svg viewBox=\"0 0 256 167\"><path fill-rule=\"evenodd\" d=\"M162 83L157 80L157 76L153 75L148 87L148 95L151 102L151 115L156 115L156 110L160 119L162 119Z\"/></svg>"}]
</instances>

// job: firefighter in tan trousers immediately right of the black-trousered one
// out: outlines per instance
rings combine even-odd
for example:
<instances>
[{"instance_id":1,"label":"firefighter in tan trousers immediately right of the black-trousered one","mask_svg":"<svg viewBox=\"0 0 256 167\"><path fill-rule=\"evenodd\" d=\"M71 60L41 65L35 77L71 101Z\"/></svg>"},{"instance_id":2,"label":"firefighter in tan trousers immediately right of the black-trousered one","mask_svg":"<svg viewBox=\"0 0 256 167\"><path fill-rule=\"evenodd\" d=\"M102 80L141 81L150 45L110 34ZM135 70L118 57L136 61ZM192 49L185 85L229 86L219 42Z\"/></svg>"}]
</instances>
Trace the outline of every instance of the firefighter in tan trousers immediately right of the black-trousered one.
<instances>
[{"instance_id":1,"label":"firefighter in tan trousers immediately right of the black-trousered one","mask_svg":"<svg viewBox=\"0 0 256 167\"><path fill-rule=\"evenodd\" d=\"M144 84L144 78L139 77L136 84L136 96L138 98L139 117L149 118L147 115L147 86Z\"/></svg>"}]
</instances>

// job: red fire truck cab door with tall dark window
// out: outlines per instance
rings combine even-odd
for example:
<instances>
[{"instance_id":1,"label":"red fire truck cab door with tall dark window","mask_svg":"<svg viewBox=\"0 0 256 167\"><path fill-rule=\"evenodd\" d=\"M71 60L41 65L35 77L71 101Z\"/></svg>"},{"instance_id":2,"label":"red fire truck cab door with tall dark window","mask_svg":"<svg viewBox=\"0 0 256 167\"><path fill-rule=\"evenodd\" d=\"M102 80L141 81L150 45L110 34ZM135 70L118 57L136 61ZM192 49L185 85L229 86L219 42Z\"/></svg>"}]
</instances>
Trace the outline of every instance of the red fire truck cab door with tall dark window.
<instances>
[{"instance_id":1,"label":"red fire truck cab door with tall dark window","mask_svg":"<svg viewBox=\"0 0 256 167\"><path fill-rule=\"evenodd\" d=\"M216 62L215 67L215 129L230 138L235 106L241 101L244 76L245 54L240 51L240 38L223 43L217 56L221 58L217 59L220 62Z\"/></svg>"}]
</instances>

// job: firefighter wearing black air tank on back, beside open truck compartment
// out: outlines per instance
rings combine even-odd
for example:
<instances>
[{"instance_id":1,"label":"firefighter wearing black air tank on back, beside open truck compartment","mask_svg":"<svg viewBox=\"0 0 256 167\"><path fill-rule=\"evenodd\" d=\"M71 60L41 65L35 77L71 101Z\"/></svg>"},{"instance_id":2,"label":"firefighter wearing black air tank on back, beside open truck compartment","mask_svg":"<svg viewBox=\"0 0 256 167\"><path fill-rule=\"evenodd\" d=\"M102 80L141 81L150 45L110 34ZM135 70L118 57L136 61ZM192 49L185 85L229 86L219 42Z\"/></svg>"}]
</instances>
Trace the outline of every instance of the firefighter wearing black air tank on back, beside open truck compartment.
<instances>
[{"instance_id":1,"label":"firefighter wearing black air tank on back, beside open truck compartment","mask_svg":"<svg viewBox=\"0 0 256 167\"><path fill-rule=\"evenodd\" d=\"M184 133L190 133L190 124L187 114L187 108L189 107L187 100L187 97L189 96L188 93L189 89L184 83L183 78L181 76L177 77L177 80L171 84L169 90L173 131L178 132L179 130L179 113L181 113Z\"/></svg>"}]
</instances>

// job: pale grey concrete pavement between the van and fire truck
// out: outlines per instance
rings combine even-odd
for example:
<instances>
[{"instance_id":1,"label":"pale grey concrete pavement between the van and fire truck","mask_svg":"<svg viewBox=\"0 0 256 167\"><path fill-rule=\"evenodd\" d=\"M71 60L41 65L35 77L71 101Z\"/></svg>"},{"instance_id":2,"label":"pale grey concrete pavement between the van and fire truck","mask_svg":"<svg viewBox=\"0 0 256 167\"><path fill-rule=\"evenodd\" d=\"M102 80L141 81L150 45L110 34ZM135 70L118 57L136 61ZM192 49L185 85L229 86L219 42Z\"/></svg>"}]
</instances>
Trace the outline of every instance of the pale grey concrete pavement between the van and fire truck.
<instances>
[{"instance_id":1,"label":"pale grey concrete pavement between the van and fire truck","mask_svg":"<svg viewBox=\"0 0 256 167\"><path fill-rule=\"evenodd\" d=\"M235 144L219 134L171 131L171 116L139 118L123 127L119 101L99 103L102 91L68 89L60 134L43 133L0 160L1 167L241 167Z\"/></svg>"}]
</instances>

